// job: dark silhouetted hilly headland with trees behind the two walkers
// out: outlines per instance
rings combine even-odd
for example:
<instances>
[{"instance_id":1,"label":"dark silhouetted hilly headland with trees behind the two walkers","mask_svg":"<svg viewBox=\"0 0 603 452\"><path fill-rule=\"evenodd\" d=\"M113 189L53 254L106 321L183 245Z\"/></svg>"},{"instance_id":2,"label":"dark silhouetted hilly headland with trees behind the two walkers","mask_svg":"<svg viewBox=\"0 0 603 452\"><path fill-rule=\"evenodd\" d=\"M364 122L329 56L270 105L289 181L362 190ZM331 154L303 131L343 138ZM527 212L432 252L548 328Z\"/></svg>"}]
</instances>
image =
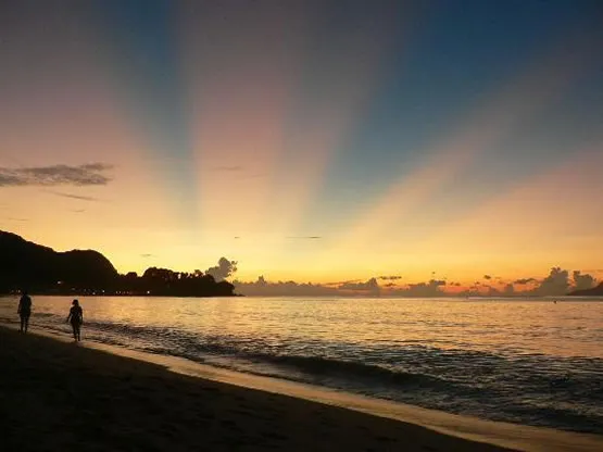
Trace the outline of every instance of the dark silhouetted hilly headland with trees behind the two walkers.
<instances>
[{"instance_id":1,"label":"dark silhouetted hilly headland with trees behind the two walkers","mask_svg":"<svg viewBox=\"0 0 603 452\"><path fill-rule=\"evenodd\" d=\"M0 293L55 296L234 297L235 286L203 272L151 267L121 275L93 250L56 252L0 230Z\"/></svg>"}]
</instances>

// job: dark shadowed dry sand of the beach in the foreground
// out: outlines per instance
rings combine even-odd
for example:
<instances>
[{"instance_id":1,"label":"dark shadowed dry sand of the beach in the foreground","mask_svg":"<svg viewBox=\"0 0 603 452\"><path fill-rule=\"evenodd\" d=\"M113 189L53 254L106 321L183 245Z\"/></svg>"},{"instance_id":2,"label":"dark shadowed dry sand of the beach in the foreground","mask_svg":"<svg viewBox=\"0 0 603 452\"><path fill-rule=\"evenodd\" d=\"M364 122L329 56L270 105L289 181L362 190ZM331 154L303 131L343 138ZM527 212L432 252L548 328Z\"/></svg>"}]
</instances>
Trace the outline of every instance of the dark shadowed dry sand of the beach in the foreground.
<instances>
[{"instance_id":1,"label":"dark shadowed dry sand of the beach in the foreground","mask_svg":"<svg viewBox=\"0 0 603 452\"><path fill-rule=\"evenodd\" d=\"M0 327L2 451L500 451Z\"/></svg>"}]
</instances>

